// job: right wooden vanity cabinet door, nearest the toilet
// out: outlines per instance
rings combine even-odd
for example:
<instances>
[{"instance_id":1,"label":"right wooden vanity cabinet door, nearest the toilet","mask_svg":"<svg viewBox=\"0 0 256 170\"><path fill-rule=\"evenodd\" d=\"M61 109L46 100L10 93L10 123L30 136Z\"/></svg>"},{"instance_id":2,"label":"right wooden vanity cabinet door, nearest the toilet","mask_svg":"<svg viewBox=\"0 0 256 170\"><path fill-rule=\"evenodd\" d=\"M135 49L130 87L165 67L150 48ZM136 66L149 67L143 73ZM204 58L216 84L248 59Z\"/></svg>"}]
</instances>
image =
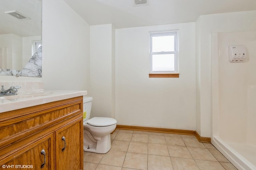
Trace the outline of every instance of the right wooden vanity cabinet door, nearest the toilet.
<instances>
[{"instance_id":1,"label":"right wooden vanity cabinet door, nearest the toilet","mask_svg":"<svg viewBox=\"0 0 256 170\"><path fill-rule=\"evenodd\" d=\"M56 131L56 170L83 169L82 117Z\"/></svg>"}]
</instances>

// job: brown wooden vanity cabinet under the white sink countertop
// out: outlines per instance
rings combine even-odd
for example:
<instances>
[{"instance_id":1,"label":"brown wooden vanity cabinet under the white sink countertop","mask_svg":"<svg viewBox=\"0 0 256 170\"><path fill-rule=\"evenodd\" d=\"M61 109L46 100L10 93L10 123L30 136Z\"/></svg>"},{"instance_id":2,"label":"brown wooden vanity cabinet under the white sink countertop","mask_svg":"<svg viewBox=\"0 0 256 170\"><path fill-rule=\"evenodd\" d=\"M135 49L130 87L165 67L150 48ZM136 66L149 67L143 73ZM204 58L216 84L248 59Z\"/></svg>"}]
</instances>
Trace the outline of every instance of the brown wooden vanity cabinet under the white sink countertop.
<instances>
[{"instance_id":1,"label":"brown wooden vanity cabinet under the white sink countertop","mask_svg":"<svg viewBox=\"0 0 256 170\"><path fill-rule=\"evenodd\" d=\"M82 100L0 113L0 170L83 169Z\"/></svg>"}]
</instances>

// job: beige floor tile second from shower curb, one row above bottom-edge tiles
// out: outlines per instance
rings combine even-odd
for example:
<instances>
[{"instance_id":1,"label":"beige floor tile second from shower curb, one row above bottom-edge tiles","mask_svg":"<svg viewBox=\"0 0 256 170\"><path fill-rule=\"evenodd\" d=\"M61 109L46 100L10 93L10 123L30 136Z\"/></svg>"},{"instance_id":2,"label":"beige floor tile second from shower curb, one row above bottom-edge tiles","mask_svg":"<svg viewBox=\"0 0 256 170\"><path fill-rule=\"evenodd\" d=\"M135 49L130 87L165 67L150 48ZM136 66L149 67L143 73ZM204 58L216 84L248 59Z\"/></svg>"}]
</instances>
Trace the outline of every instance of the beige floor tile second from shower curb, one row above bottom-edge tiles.
<instances>
[{"instance_id":1,"label":"beige floor tile second from shower curb, one row above bottom-edge tiles","mask_svg":"<svg viewBox=\"0 0 256 170\"><path fill-rule=\"evenodd\" d=\"M188 151L194 159L217 161L208 149L188 147Z\"/></svg>"}]
</instances>

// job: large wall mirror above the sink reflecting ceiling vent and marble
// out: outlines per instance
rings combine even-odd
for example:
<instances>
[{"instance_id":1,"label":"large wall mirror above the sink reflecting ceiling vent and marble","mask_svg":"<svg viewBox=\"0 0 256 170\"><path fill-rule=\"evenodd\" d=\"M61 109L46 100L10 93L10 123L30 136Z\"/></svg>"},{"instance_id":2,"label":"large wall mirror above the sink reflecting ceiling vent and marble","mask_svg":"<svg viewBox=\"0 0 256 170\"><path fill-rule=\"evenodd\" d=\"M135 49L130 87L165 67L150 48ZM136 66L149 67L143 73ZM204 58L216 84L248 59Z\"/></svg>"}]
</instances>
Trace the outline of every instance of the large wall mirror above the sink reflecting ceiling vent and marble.
<instances>
[{"instance_id":1,"label":"large wall mirror above the sink reflecting ceiling vent and marble","mask_svg":"<svg viewBox=\"0 0 256 170\"><path fill-rule=\"evenodd\" d=\"M42 0L0 0L0 21L0 75L41 77Z\"/></svg>"}]
</instances>

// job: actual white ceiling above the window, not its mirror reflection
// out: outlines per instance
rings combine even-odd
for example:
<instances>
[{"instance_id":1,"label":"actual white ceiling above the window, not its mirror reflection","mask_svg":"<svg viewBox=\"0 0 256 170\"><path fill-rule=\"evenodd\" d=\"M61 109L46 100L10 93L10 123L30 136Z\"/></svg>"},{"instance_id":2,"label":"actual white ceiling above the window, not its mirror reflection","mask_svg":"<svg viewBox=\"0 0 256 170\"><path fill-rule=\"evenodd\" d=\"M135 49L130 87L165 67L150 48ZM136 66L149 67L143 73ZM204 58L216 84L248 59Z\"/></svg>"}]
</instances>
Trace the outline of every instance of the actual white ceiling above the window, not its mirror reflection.
<instances>
[{"instance_id":1,"label":"actual white ceiling above the window, not its mirror reflection","mask_svg":"<svg viewBox=\"0 0 256 170\"><path fill-rule=\"evenodd\" d=\"M256 10L256 0L64 0L89 25L116 28L194 22L200 15Z\"/></svg>"}]
</instances>

